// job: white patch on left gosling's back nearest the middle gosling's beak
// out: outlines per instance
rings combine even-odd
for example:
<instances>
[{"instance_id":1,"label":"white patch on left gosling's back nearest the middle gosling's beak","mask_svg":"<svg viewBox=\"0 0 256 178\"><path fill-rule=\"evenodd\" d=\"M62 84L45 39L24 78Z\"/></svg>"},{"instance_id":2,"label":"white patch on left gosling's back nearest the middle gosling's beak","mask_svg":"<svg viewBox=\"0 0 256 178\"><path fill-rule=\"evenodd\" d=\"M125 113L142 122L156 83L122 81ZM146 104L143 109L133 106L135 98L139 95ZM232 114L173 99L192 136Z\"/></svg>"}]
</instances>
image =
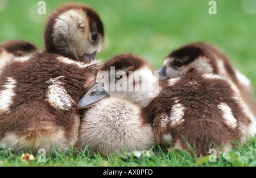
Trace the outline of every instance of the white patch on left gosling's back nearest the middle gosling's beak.
<instances>
[{"instance_id":1,"label":"white patch on left gosling's back nearest the middle gosling's beak","mask_svg":"<svg viewBox=\"0 0 256 178\"><path fill-rule=\"evenodd\" d=\"M65 83L59 81L60 78L64 76L59 76L56 78L50 78L47 81L48 89L47 89L47 101L50 105L55 107L56 109L61 110L69 110L75 102L72 100L71 96L67 93L64 86Z\"/></svg>"}]
</instances>

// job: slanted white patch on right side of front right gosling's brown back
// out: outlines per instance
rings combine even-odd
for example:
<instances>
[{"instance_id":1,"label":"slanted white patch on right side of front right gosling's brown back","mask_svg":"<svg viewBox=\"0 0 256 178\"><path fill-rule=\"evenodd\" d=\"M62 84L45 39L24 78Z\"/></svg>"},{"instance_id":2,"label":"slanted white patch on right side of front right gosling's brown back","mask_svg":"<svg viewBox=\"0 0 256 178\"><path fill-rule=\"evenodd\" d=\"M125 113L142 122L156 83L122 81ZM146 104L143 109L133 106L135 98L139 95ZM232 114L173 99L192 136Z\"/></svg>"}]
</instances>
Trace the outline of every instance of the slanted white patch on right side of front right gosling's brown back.
<instances>
[{"instance_id":1,"label":"slanted white patch on right side of front right gosling's brown back","mask_svg":"<svg viewBox=\"0 0 256 178\"><path fill-rule=\"evenodd\" d=\"M218 109L220 109L222 111L223 118L225 119L226 124L232 128L236 128L237 127L237 119L234 118L231 108L225 103L221 103L217 107L218 107Z\"/></svg>"}]
</instances>

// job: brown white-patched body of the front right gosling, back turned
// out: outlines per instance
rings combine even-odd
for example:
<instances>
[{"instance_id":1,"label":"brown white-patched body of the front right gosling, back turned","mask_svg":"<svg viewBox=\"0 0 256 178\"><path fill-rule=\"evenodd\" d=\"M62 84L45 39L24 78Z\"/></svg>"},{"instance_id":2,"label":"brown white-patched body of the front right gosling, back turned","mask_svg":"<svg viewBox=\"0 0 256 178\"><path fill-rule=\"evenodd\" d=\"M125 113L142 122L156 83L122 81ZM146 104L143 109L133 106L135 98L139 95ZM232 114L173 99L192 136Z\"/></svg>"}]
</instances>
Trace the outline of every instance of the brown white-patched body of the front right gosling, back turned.
<instances>
[{"instance_id":1,"label":"brown white-patched body of the front right gosling, back turned","mask_svg":"<svg viewBox=\"0 0 256 178\"><path fill-rule=\"evenodd\" d=\"M233 82L194 71L160 81L159 95L144 115L158 144L206 156L210 148L228 151L234 140L243 143L254 136L256 122L244 106Z\"/></svg>"}]
</instances>

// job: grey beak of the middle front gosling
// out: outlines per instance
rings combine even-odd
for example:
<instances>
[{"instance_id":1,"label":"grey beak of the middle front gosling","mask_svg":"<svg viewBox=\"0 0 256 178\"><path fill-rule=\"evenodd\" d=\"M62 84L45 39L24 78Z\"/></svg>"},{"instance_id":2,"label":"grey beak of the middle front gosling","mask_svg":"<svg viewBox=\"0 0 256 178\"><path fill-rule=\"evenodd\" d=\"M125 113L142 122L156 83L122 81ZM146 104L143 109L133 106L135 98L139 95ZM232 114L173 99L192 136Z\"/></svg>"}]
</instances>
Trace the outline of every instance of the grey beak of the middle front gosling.
<instances>
[{"instance_id":1,"label":"grey beak of the middle front gosling","mask_svg":"<svg viewBox=\"0 0 256 178\"><path fill-rule=\"evenodd\" d=\"M105 90L102 87L102 83L96 83L79 101L79 107L80 109L88 108L106 96L108 95L105 93Z\"/></svg>"}]
</instances>

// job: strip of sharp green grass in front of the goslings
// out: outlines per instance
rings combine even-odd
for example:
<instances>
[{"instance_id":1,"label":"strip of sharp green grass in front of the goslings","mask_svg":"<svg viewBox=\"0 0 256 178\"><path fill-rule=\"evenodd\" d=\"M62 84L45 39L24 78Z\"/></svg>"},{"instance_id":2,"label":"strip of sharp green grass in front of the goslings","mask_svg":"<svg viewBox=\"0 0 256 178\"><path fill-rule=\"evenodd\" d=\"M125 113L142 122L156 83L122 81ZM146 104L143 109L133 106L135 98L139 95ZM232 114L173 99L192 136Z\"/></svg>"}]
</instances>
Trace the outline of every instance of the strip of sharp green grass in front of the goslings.
<instances>
[{"instance_id":1,"label":"strip of sharp green grass in front of the goslings","mask_svg":"<svg viewBox=\"0 0 256 178\"><path fill-rule=\"evenodd\" d=\"M0 146L1 147L1 146ZM192 150L193 152L193 150ZM35 156L34 160L23 162L21 154L15 154L14 150L8 150L7 147L0 148L0 166L23 166L23 167L255 167L256 166L256 136L249 142L236 144L236 148L230 152L218 152L216 161L209 162L209 157L195 158L193 154L186 151L172 150L171 148L162 149L155 146L149 152L151 155L142 154L138 156L136 152L118 155L108 155L102 157L99 154L91 154L90 151L72 152L67 150L66 153L55 150L55 156L46 156L46 162L39 162L40 154ZM210 157L212 160L212 157Z\"/></svg>"}]
</instances>

